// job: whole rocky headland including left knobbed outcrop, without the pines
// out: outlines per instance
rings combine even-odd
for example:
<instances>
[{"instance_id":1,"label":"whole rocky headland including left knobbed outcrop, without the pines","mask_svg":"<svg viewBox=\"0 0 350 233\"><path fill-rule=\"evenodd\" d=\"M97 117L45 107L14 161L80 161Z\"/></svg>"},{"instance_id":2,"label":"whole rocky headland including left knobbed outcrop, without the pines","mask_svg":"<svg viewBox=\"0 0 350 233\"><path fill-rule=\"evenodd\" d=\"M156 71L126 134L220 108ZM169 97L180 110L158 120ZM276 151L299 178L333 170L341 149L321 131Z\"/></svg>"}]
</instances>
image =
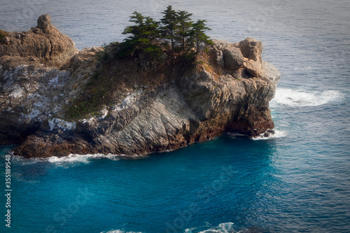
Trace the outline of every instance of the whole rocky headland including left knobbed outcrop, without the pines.
<instances>
[{"instance_id":1,"label":"whole rocky headland including left knobbed outcrop, without the pines","mask_svg":"<svg viewBox=\"0 0 350 233\"><path fill-rule=\"evenodd\" d=\"M78 51L41 15L0 41L0 142L24 157L140 156L223 132L272 133L280 73L262 61L262 43L213 42L190 64L168 56L141 70L141 57L113 59L118 45L104 62L101 47Z\"/></svg>"}]
</instances>

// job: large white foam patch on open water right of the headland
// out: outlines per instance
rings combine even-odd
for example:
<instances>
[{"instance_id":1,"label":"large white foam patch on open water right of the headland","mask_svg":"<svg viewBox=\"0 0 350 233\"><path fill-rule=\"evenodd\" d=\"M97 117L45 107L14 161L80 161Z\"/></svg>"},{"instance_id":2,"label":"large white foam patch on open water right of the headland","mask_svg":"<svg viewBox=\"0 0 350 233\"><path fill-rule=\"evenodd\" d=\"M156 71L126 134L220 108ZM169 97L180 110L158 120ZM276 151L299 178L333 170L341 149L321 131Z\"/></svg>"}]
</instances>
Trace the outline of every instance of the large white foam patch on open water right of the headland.
<instances>
[{"instance_id":1,"label":"large white foam patch on open water right of the headland","mask_svg":"<svg viewBox=\"0 0 350 233\"><path fill-rule=\"evenodd\" d=\"M306 91L288 88L277 88L274 99L270 101L273 108L276 105L286 106L320 106L332 101L341 101L342 93L337 90Z\"/></svg>"}]
</instances>

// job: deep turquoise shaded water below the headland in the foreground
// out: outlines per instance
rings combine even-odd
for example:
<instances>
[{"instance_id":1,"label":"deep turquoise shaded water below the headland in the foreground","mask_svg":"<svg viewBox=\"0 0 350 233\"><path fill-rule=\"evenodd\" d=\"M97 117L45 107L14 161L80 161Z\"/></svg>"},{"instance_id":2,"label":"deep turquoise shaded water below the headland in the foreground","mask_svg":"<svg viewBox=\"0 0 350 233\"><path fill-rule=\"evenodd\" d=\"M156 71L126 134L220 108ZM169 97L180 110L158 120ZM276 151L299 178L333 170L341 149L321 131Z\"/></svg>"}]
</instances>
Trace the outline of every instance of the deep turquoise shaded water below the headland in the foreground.
<instances>
[{"instance_id":1,"label":"deep turquoise shaded water below the headland in the foreground","mask_svg":"<svg viewBox=\"0 0 350 233\"><path fill-rule=\"evenodd\" d=\"M221 223L265 232L262 220L272 213L281 184L275 176L275 156L274 139L253 141L226 134L141 160L89 159L74 166L18 160L18 205L41 204L37 211L29 206L14 217L24 221L27 230L53 225L73 231L76 225L61 226L53 216L71 204L77 190L87 188L98 198L90 199L71 219L84 223L81 230L86 232L184 232ZM92 214L96 210L108 214ZM41 223L34 219L38 215Z\"/></svg>"}]
</instances>

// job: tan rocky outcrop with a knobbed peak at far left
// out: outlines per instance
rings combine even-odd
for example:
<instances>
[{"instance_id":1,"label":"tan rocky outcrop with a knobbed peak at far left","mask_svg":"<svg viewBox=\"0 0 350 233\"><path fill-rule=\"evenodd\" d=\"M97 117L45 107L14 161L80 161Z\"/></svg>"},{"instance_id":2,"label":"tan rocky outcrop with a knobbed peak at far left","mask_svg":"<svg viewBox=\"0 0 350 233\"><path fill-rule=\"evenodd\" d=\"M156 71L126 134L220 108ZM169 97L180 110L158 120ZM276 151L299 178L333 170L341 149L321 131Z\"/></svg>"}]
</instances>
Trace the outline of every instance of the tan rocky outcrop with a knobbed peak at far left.
<instances>
[{"instance_id":1,"label":"tan rocky outcrop with a knobbed peak at far left","mask_svg":"<svg viewBox=\"0 0 350 233\"><path fill-rule=\"evenodd\" d=\"M75 43L41 15L29 31L8 33L0 43L0 64L13 69L20 64L46 64L60 68L78 53Z\"/></svg>"}]
</instances>

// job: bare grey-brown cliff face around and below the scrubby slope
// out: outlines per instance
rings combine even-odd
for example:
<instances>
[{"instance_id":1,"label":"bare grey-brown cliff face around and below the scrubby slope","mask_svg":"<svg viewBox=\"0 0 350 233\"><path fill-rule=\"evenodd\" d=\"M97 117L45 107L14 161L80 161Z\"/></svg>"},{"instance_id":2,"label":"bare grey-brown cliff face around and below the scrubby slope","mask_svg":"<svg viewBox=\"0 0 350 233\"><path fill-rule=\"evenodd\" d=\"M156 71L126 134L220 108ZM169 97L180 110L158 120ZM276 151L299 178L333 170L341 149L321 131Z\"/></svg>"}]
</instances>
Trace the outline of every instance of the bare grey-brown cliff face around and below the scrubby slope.
<instances>
[{"instance_id":1,"label":"bare grey-brown cliff face around and below the scrubby slope","mask_svg":"<svg viewBox=\"0 0 350 233\"><path fill-rule=\"evenodd\" d=\"M15 154L25 157L137 156L180 148L223 132L257 136L274 127L269 101L280 74L272 64L262 62L262 43L252 38L240 43L214 40L195 66L157 85L126 87L120 77L118 85L125 88L109 93L111 101L101 104L96 114L68 120L67 109L87 92L101 69L95 59L99 49L74 55L70 70L43 64L0 68L0 140L21 143ZM104 78L124 69L109 66Z\"/></svg>"}]
</instances>

